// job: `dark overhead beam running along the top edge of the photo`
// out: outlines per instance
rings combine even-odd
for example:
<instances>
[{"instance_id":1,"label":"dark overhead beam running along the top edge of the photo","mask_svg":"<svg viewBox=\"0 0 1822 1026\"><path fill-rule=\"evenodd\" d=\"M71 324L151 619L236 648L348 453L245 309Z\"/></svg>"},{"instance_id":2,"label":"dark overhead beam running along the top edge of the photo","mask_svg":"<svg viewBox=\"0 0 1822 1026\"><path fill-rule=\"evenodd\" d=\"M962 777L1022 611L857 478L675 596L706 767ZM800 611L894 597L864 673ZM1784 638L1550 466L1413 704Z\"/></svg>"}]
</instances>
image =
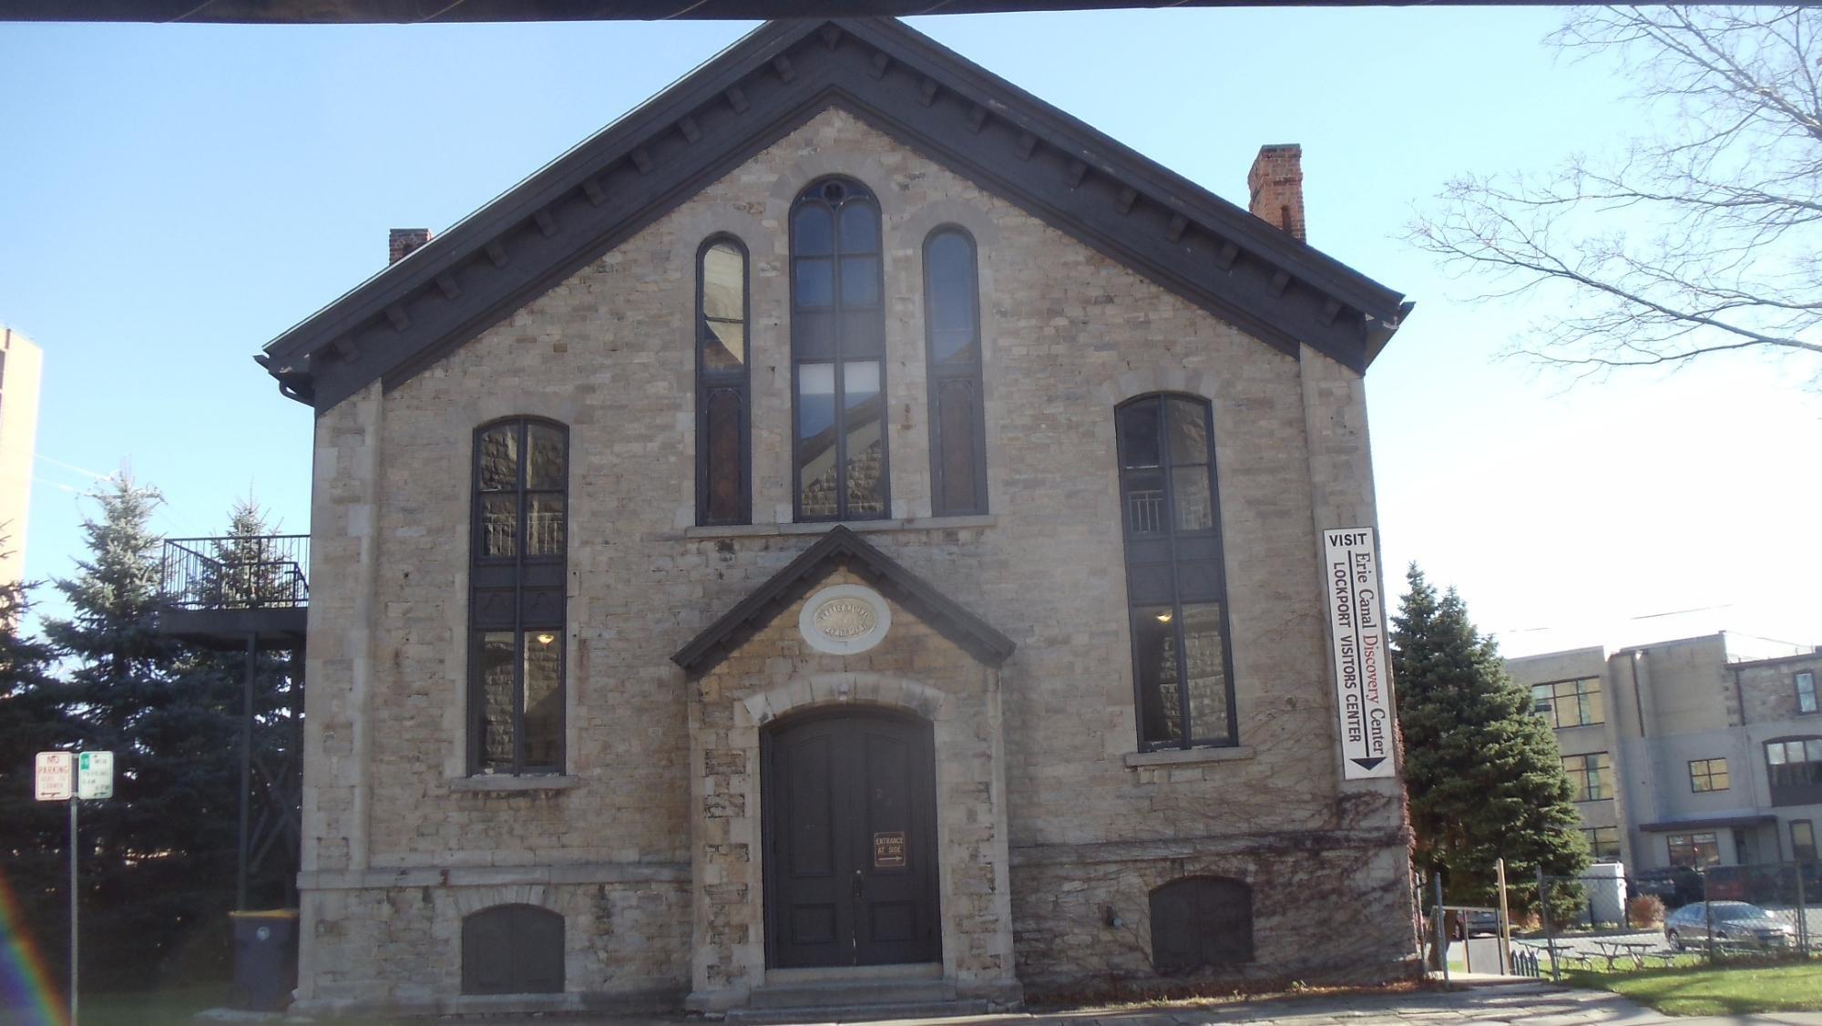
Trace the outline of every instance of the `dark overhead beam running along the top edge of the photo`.
<instances>
[{"instance_id":1,"label":"dark overhead beam running along the top edge of the photo","mask_svg":"<svg viewBox=\"0 0 1822 1026\"><path fill-rule=\"evenodd\" d=\"M1483 0L1427 0L1483 5ZM1505 0L1512 5L1514 0ZM1534 0L1516 0L1532 4ZM1159 7L1161 0L947 0L944 15ZM1172 7L1401 7L1368 0L1179 0ZM1536 2L1534 5L1543 5ZM0 0L0 22L230 22L268 26L421 22L656 22L909 16L929 0ZM838 42L838 40L836 40ZM831 42L831 46L834 46Z\"/></svg>"}]
</instances>

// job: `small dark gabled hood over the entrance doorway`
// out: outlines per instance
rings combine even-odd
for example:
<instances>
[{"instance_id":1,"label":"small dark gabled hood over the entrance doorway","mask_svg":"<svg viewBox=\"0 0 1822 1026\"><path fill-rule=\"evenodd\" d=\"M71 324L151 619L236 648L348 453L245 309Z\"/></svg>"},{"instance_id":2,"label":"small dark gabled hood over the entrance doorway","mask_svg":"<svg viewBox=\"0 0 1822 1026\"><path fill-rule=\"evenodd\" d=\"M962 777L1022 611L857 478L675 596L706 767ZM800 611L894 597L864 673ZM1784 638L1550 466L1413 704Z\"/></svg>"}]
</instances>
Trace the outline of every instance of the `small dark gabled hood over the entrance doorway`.
<instances>
[{"instance_id":1,"label":"small dark gabled hood over the entrance doorway","mask_svg":"<svg viewBox=\"0 0 1822 1026\"><path fill-rule=\"evenodd\" d=\"M929 581L907 570L902 563L867 545L853 530L836 525L802 556L752 589L707 631L696 634L670 656L691 678L712 671L729 652L771 623L791 603L809 594L829 570L847 567L860 574L885 598L911 610L938 634L989 667L1004 663L1013 654L1013 641L995 631Z\"/></svg>"}]
</instances>

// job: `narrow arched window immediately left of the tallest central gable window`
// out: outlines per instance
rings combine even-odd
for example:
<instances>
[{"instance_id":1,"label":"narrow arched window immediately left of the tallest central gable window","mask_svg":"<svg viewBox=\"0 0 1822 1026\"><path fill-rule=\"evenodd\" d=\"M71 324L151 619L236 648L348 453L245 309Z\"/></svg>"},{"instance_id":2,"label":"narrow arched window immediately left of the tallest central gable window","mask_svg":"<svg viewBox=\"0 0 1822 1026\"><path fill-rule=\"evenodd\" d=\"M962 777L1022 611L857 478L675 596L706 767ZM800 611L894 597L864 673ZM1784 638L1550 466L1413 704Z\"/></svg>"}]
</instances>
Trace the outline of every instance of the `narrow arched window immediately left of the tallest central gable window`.
<instances>
[{"instance_id":1,"label":"narrow arched window immediately left of the tallest central gable window","mask_svg":"<svg viewBox=\"0 0 1822 1026\"><path fill-rule=\"evenodd\" d=\"M696 523L751 523L747 250L711 239L696 255Z\"/></svg>"}]
</instances>

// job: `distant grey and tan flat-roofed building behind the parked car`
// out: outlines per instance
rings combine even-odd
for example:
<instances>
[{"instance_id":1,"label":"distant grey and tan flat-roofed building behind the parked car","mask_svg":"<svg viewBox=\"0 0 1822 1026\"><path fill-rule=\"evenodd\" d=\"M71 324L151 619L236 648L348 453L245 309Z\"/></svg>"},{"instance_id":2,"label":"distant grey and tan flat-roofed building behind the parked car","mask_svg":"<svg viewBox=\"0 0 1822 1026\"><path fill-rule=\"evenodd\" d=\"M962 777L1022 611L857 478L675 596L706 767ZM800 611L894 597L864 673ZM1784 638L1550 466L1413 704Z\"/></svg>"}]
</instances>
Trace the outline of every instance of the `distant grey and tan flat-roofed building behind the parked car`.
<instances>
[{"instance_id":1,"label":"distant grey and tan flat-roofed building behind the parked car","mask_svg":"<svg viewBox=\"0 0 1822 1026\"><path fill-rule=\"evenodd\" d=\"M1507 669L1556 729L1596 858L1631 869L1815 862L1822 647L1720 632Z\"/></svg>"}]
</instances>

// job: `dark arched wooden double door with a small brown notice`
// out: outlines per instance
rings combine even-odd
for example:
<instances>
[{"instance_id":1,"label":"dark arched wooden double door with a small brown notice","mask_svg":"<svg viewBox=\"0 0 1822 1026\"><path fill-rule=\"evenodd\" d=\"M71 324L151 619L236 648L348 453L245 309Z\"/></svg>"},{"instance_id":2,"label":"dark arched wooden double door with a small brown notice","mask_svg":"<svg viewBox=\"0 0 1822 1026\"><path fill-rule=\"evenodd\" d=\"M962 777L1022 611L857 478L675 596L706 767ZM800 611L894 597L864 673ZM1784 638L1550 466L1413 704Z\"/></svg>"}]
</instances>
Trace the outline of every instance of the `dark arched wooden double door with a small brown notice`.
<instances>
[{"instance_id":1,"label":"dark arched wooden double door with a small brown notice","mask_svg":"<svg viewBox=\"0 0 1822 1026\"><path fill-rule=\"evenodd\" d=\"M760 762L767 964L940 960L929 723L791 718L762 734Z\"/></svg>"}]
</instances>

